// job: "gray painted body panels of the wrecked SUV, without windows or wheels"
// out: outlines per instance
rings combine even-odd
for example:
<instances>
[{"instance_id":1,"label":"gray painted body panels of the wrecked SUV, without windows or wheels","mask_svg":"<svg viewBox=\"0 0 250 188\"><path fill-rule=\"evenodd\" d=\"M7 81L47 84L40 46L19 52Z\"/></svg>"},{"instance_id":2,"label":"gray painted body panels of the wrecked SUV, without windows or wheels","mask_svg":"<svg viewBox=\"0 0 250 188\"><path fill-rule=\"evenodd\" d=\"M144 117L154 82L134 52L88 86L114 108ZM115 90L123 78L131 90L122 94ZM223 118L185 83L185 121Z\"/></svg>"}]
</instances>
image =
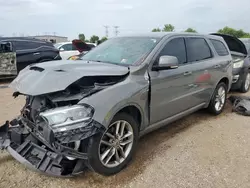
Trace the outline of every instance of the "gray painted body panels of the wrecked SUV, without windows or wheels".
<instances>
[{"instance_id":1,"label":"gray painted body panels of the wrecked SUV, without windows or wheels","mask_svg":"<svg viewBox=\"0 0 250 188\"><path fill-rule=\"evenodd\" d=\"M228 79L228 89L230 89L232 81L232 57L231 55L218 56L208 40L208 38L216 38L225 44L221 37L187 33L158 33L147 36L158 36L162 39L140 66L131 66L130 73L124 81L83 98L79 102L94 107L95 113L93 119L105 127L108 127L110 121L118 111L132 105L142 115L140 128L142 131L141 134L143 134L164 125L164 123L171 122L200 108L207 107L216 85L222 78ZM158 72L152 71L152 65L160 50L171 39L176 37L205 38L211 47L213 57L181 65L177 69ZM83 76L124 75L128 73L126 67L110 64L87 64L86 62L65 63L61 65L58 62L48 62L39 65L39 67L45 69L44 73L30 71L26 68L13 82L12 87L22 93L38 95L62 90ZM63 69L66 72L56 73L56 69ZM192 74L185 74L186 72L192 72ZM211 75L211 79L198 82L197 78L204 74ZM63 84L54 80L60 80ZM33 81L35 84L31 84ZM150 89L151 95L149 93ZM149 100L151 100L150 104Z\"/></svg>"}]
</instances>

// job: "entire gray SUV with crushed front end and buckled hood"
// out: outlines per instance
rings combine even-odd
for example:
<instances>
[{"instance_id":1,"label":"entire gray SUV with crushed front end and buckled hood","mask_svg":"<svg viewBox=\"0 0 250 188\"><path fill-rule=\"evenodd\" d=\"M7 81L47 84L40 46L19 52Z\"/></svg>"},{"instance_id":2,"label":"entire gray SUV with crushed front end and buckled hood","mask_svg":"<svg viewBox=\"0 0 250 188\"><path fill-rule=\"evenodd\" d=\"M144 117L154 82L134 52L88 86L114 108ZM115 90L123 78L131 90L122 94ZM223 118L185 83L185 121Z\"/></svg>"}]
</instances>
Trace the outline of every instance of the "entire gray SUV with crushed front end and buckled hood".
<instances>
[{"instance_id":1,"label":"entire gray SUV with crushed front end and buckled hood","mask_svg":"<svg viewBox=\"0 0 250 188\"><path fill-rule=\"evenodd\" d=\"M228 53L219 55L213 41ZM0 147L26 166L71 176L125 168L140 136L199 109L223 111L232 57L223 38L150 33L109 39L81 60L26 67L10 84L26 96Z\"/></svg>"}]
</instances>

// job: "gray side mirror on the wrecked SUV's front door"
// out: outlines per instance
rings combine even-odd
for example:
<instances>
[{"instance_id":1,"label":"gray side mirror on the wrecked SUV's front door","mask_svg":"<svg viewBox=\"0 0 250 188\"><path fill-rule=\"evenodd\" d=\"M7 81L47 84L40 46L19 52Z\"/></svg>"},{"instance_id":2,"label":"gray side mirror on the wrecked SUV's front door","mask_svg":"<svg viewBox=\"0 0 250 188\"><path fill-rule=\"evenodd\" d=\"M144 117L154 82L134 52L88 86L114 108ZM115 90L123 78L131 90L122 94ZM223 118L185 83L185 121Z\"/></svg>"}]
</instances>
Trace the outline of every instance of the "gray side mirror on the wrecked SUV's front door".
<instances>
[{"instance_id":1,"label":"gray side mirror on the wrecked SUV's front door","mask_svg":"<svg viewBox=\"0 0 250 188\"><path fill-rule=\"evenodd\" d=\"M175 56L161 56L159 58L159 63L152 67L153 71L159 70L168 70L168 69L177 69L178 68L178 59Z\"/></svg>"}]
</instances>

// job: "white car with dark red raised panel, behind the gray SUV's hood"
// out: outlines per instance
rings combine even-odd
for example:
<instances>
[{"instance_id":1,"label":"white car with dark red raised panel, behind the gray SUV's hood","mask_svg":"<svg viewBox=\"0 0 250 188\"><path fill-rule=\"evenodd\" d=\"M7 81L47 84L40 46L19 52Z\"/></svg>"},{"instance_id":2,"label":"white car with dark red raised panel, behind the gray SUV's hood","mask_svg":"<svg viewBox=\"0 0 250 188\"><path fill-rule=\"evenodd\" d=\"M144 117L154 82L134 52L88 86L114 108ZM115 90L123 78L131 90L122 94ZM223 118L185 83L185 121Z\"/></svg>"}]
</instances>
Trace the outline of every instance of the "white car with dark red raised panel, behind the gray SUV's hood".
<instances>
[{"instance_id":1,"label":"white car with dark red raised panel, behind the gray SUV's hood","mask_svg":"<svg viewBox=\"0 0 250 188\"><path fill-rule=\"evenodd\" d=\"M87 44L87 46L86 46ZM94 43L84 43L81 40L73 40L72 42L62 42L54 44L54 46L60 51L62 59L68 59L71 56L79 55L82 52L89 51L94 48Z\"/></svg>"}]
</instances>

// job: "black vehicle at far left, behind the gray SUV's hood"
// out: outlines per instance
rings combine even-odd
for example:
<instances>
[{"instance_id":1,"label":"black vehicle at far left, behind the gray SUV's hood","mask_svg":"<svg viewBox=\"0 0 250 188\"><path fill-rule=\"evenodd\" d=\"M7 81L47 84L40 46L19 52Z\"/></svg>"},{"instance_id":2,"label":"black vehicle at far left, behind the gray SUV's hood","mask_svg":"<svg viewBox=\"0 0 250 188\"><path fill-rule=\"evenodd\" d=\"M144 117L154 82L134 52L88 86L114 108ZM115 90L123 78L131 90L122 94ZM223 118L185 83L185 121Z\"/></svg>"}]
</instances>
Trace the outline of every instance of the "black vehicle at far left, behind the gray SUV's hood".
<instances>
[{"instance_id":1,"label":"black vehicle at far left, behind the gray SUV's hood","mask_svg":"<svg viewBox=\"0 0 250 188\"><path fill-rule=\"evenodd\" d=\"M60 60L50 42L24 37L0 38L0 77L13 77L27 65Z\"/></svg>"}]
</instances>

